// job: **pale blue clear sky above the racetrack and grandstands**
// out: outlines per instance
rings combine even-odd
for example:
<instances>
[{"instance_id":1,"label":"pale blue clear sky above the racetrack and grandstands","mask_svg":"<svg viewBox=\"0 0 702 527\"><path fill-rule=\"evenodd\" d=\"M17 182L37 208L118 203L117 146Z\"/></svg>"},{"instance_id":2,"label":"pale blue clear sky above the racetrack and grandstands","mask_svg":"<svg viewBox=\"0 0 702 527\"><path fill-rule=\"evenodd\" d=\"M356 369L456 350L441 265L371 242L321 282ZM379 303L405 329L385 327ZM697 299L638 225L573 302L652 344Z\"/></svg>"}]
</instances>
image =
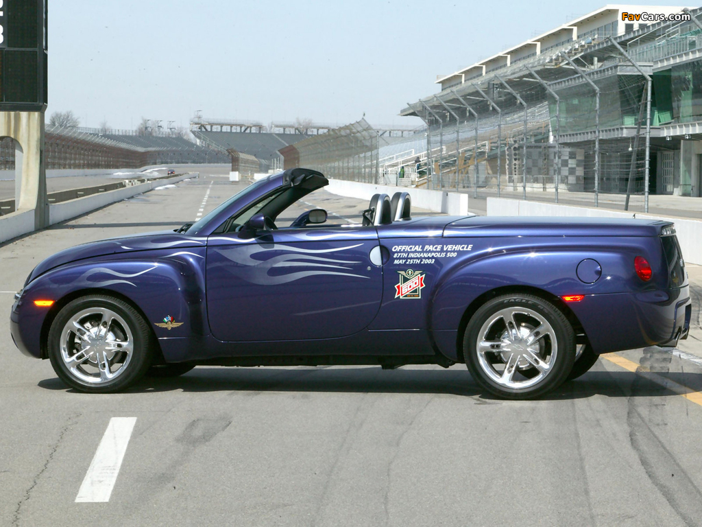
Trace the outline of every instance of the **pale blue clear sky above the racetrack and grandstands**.
<instances>
[{"instance_id":1,"label":"pale blue clear sky above the racetrack and grandstands","mask_svg":"<svg viewBox=\"0 0 702 527\"><path fill-rule=\"evenodd\" d=\"M602 1L49 0L48 108L81 126L143 117L419 125L437 75ZM680 5L658 1L650 5Z\"/></svg>"}]
</instances>

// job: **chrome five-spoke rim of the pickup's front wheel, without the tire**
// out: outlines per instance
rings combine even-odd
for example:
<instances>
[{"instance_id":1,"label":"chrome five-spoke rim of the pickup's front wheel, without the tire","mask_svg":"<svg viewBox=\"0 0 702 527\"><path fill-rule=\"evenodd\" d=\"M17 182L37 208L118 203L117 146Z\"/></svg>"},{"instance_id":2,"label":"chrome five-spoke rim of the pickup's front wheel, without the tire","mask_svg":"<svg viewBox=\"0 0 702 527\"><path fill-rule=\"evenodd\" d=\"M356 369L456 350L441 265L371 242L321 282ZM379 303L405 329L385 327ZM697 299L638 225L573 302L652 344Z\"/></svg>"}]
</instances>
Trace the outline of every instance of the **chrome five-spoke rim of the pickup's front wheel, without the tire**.
<instances>
[{"instance_id":1,"label":"chrome five-spoke rim of the pickup's front wheel, without the tire","mask_svg":"<svg viewBox=\"0 0 702 527\"><path fill-rule=\"evenodd\" d=\"M127 369L134 351L129 325L109 308L86 308L72 315L60 334L60 357L81 382L111 382Z\"/></svg>"}]
</instances>

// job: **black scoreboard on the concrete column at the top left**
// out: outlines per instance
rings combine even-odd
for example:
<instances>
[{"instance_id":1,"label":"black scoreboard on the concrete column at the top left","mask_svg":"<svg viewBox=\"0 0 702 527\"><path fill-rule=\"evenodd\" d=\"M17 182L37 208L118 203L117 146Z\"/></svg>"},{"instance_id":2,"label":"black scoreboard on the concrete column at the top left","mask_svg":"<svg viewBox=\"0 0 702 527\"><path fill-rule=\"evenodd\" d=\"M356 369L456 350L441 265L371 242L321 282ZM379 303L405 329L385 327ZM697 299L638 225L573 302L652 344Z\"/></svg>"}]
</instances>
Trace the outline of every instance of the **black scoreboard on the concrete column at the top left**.
<instances>
[{"instance_id":1,"label":"black scoreboard on the concrete column at the top left","mask_svg":"<svg viewBox=\"0 0 702 527\"><path fill-rule=\"evenodd\" d=\"M0 111L46 109L48 0L0 0Z\"/></svg>"}]
</instances>

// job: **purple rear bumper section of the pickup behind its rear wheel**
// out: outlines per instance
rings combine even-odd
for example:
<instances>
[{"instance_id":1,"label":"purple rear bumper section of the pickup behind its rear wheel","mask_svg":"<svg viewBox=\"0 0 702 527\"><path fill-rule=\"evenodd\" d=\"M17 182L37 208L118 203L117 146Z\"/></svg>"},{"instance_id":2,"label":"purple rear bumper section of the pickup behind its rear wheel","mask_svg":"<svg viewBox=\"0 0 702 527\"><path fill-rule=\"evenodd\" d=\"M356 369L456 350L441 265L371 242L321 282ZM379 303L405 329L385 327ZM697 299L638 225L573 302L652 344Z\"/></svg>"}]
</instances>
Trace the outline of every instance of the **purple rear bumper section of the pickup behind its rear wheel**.
<instances>
[{"instance_id":1,"label":"purple rear bumper section of the pickup behind its rear wheel","mask_svg":"<svg viewBox=\"0 0 702 527\"><path fill-rule=\"evenodd\" d=\"M690 325L689 287L642 293L593 294L569 304L595 353L675 346Z\"/></svg>"}]
</instances>

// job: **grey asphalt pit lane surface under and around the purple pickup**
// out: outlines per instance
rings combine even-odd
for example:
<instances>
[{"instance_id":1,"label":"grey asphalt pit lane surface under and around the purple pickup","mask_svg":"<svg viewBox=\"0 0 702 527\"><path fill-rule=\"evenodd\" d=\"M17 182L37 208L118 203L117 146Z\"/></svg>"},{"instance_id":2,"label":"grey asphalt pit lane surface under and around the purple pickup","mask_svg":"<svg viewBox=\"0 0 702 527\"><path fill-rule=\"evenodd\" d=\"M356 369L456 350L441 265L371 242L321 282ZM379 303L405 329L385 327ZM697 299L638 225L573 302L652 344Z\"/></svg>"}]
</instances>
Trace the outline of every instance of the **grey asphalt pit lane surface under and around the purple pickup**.
<instances>
[{"instance_id":1,"label":"grey asphalt pit lane surface under and around the purple pickup","mask_svg":"<svg viewBox=\"0 0 702 527\"><path fill-rule=\"evenodd\" d=\"M622 360L539 401L484 396L463 365L197 367L96 396L15 349L12 293L45 256L176 228L242 185L203 174L0 246L0 525L702 523L699 267L677 352L608 356ZM316 195L305 207L348 221L367 206ZM76 502L110 422L129 417L109 500Z\"/></svg>"}]
</instances>

